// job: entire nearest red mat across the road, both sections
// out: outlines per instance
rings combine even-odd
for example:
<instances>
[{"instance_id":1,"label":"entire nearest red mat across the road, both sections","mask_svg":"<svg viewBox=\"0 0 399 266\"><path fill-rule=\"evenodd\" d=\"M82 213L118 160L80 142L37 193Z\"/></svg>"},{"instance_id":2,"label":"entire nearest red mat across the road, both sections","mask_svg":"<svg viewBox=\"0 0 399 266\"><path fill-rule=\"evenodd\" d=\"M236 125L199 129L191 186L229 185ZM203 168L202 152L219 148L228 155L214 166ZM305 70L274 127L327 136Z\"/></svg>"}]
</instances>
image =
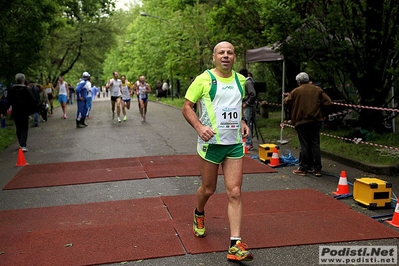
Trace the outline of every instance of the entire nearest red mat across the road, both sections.
<instances>
[{"instance_id":1,"label":"entire nearest red mat across the road, both sections","mask_svg":"<svg viewBox=\"0 0 399 266\"><path fill-rule=\"evenodd\" d=\"M251 249L399 237L312 189L245 192L243 201L242 237ZM195 195L0 211L0 265L91 265L185 250L224 252L226 195L215 194L208 204L205 238L192 233Z\"/></svg>"}]
</instances>

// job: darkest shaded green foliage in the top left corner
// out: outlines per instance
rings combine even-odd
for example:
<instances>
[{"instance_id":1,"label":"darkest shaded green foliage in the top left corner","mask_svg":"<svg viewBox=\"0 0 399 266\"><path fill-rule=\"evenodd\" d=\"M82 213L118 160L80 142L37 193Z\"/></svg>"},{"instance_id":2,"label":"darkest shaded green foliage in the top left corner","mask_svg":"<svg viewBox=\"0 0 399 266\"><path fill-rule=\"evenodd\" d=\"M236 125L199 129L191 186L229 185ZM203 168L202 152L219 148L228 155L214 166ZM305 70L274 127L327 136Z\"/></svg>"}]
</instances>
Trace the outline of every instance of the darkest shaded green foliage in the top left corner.
<instances>
[{"instance_id":1,"label":"darkest shaded green foliage in the top left corner","mask_svg":"<svg viewBox=\"0 0 399 266\"><path fill-rule=\"evenodd\" d=\"M3 1L5 2L5 1ZM14 82L39 58L45 36L56 27L57 3L51 0L15 0L2 3L0 16L0 80Z\"/></svg>"}]
</instances>

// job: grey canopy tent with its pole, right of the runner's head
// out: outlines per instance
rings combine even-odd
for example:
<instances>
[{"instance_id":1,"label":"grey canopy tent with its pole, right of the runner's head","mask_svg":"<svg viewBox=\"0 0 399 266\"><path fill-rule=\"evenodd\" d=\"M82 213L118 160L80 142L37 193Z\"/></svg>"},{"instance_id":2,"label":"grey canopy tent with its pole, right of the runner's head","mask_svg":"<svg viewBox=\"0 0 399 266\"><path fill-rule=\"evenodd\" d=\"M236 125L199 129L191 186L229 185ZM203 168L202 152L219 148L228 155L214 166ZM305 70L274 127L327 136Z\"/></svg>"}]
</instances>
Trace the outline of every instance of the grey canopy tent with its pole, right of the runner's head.
<instances>
[{"instance_id":1,"label":"grey canopy tent with its pole, right of the runner's head","mask_svg":"<svg viewBox=\"0 0 399 266\"><path fill-rule=\"evenodd\" d=\"M256 49L250 49L246 52L246 63L247 66L250 63L255 62L276 62L283 61L283 78L282 78L282 93L281 93L281 126L280 126L280 140L277 141L280 144L288 143L287 140L283 140L283 121L284 121L284 92L285 92L285 60L284 56L279 52L273 50L272 47L264 46ZM247 67L248 68L248 67Z\"/></svg>"}]
</instances>

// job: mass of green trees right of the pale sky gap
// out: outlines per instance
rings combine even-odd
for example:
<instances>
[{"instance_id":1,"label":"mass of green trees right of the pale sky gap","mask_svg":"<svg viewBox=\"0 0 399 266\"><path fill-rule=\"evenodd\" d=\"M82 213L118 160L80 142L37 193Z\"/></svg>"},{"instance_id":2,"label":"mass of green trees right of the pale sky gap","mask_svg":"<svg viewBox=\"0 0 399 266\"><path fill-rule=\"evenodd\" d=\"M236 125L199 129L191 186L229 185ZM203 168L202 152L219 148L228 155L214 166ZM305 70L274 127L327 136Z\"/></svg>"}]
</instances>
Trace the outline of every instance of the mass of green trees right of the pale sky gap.
<instances>
[{"instance_id":1,"label":"mass of green trees right of the pale sky gap","mask_svg":"<svg viewBox=\"0 0 399 266\"><path fill-rule=\"evenodd\" d=\"M228 40L236 48L237 70L246 67L247 49L269 45L283 53L287 91L307 71L347 102L354 100L347 84L359 91L363 105L383 106L393 85L399 93L395 0L143 0L130 11L131 19L120 24L126 31L107 53L107 78L118 70L134 79L144 74L153 84L166 78L176 87L180 79L186 88L190 76L213 66L213 46ZM269 101L279 102L281 63L263 65L249 67L267 83ZM362 126L381 129L382 114L372 112L360 113Z\"/></svg>"}]
</instances>

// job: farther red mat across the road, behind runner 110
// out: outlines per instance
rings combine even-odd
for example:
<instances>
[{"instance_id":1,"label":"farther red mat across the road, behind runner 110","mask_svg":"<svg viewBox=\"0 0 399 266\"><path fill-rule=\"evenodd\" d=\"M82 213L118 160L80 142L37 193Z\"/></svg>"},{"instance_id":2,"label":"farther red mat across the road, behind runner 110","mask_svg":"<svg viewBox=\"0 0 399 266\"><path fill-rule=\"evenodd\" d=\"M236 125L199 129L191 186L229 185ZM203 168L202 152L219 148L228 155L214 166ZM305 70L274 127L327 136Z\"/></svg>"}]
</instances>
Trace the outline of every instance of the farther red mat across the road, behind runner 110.
<instances>
[{"instance_id":1,"label":"farther red mat across the road, behind runner 110","mask_svg":"<svg viewBox=\"0 0 399 266\"><path fill-rule=\"evenodd\" d=\"M244 157L243 172L274 173L273 168ZM221 169L219 173L222 174ZM199 175L197 155L147 156L24 166L3 188L21 189L120 180Z\"/></svg>"}]
</instances>

